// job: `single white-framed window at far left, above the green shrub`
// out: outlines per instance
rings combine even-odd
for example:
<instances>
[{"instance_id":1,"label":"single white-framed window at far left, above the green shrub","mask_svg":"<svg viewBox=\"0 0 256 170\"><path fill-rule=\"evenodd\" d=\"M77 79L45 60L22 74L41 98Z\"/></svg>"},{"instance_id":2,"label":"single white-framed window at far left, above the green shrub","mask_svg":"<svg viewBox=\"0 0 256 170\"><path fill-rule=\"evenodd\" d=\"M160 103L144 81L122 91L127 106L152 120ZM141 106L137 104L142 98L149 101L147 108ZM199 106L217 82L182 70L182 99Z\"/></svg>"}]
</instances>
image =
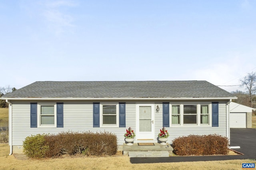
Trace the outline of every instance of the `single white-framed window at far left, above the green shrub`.
<instances>
[{"instance_id":1,"label":"single white-framed window at far left, above the green shrub","mask_svg":"<svg viewBox=\"0 0 256 170\"><path fill-rule=\"evenodd\" d=\"M38 127L56 127L56 103L38 104Z\"/></svg>"}]
</instances>

